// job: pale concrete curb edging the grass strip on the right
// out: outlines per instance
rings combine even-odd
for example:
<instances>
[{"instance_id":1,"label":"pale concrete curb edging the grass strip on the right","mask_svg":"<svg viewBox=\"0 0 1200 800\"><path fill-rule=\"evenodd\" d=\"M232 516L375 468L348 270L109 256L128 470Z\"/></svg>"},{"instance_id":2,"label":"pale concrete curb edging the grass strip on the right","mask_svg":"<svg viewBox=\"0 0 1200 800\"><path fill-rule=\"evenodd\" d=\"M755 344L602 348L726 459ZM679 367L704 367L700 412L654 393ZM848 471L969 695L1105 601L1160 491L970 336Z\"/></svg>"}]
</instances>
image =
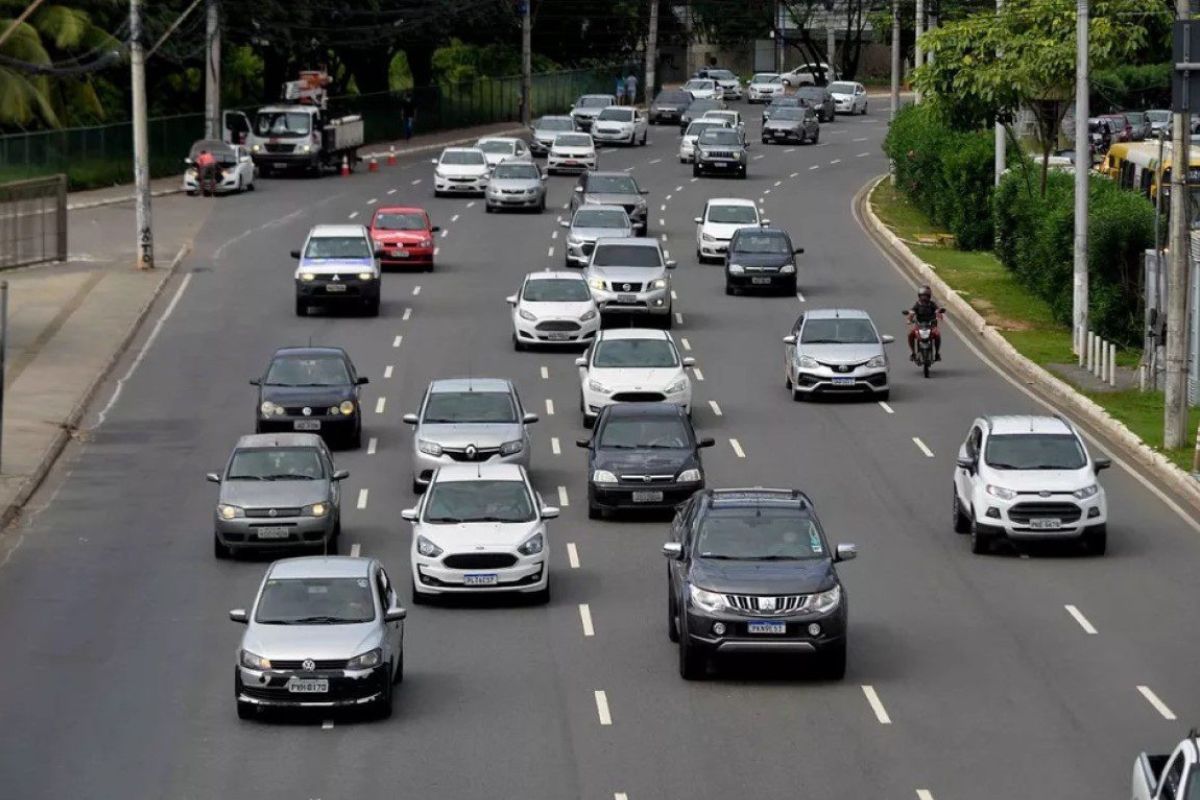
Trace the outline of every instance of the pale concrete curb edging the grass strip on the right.
<instances>
[{"instance_id":1,"label":"pale concrete curb edging the grass strip on the right","mask_svg":"<svg viewBox=\"0 0 1200 800\"><path fill-rule=\"evenodd\" d=\"M888 230L887 225L875 215L869 201L871 192L884 180L887 180L887 175L875 179L864 187L856 200L859 216L869 228L868 234L883 246L893 255L893 260L899 263L906 272L918 281L930 284L947 309L954 314L958 326L965 333L971 333L974 343L1008 367L1015 378L1063 411L1079 417L1104 434L1121 449L1133 467L1145 470L1145 474L1153 476L1162 486L1169 487L1194 510L1200 511L1200 481L1193 479L1188 473L1171 463L1166 456L1142 441L1103 407L1021 355L1008 339L1001 336L1000 331L988 324L971 303L942 281L934 267L917 258L895 234Z\"/></svg>"}]
</instances>

